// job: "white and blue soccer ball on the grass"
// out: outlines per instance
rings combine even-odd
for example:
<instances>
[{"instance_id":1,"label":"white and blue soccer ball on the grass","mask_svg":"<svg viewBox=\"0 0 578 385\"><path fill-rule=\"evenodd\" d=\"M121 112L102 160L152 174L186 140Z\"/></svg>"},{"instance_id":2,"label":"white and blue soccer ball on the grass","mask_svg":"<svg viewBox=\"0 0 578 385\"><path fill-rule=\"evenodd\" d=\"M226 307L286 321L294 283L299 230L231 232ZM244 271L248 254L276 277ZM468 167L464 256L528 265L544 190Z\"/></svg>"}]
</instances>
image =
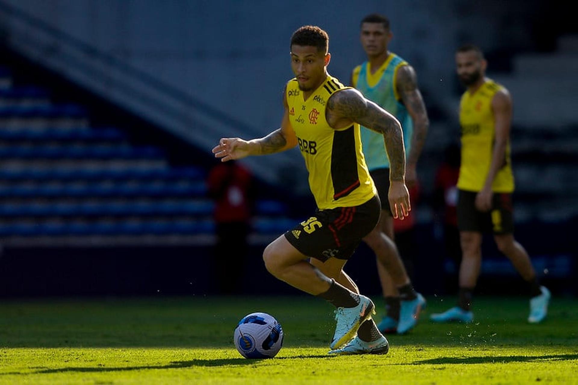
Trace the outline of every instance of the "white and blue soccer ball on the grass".
<instances>
[{"instance_id":1,"label":"white and blue soccer ball on the grass","mask_svg":"<svg viewBox=\"0 0 578 385\"><path fill-rule=\"evenodd\" d=\"M283 345L283 329L269 314L251 313L239 321L233 338L241 356L272 358L279 353Z\"/></svg>"}]
</instances>

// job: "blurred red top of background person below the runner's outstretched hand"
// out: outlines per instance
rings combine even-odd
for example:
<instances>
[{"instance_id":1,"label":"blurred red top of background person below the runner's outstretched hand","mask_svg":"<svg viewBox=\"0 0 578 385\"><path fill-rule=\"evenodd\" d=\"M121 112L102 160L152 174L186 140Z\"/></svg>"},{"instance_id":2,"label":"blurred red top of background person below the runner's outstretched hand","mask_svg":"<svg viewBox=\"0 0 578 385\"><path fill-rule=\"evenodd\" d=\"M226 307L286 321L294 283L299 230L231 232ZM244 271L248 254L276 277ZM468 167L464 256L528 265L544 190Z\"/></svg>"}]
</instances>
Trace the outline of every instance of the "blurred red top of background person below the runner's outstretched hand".
<instances>
[{"instance_id":1,"label":"blurred red top of background person below the runner's outstretched hand","mask_svg":"<svg viewBox=\"0 0 578 385\"><path fill-rule=\"evenodd\" d=\"M214 199L216 223L249 222L251 173L235 161L221 162L209 172L207 185Z\"/></svg>"}]
</instances>

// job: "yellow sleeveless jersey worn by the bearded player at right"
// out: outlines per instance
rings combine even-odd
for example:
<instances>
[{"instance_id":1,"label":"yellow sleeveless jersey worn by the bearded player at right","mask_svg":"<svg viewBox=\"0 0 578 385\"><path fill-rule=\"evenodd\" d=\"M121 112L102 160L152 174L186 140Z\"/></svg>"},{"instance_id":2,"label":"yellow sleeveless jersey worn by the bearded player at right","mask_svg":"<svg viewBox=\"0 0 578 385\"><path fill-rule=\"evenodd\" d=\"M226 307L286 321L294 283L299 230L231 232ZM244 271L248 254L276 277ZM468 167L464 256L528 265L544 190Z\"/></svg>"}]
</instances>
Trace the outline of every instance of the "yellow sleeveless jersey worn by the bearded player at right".
<instances>
[{"instance_id":1,"label":"yellow sleeveless jersey worn by the bearded player at right","mask_svg":"<svg viewBox=\"0 0 578 385\"><path fill-rule=\"evenodd\" d=\"M458 188L466 191L480 191L490 172L492 151L494 151L494 113L492 99L503 87L488 79L473 94L464 92L460 101L460 125L462 142L462 160ZM514 176L510 161L510 143L506 145L506 154L501 168L494 178L492 191L512 193Z\"/></svg>"}]
</instances>

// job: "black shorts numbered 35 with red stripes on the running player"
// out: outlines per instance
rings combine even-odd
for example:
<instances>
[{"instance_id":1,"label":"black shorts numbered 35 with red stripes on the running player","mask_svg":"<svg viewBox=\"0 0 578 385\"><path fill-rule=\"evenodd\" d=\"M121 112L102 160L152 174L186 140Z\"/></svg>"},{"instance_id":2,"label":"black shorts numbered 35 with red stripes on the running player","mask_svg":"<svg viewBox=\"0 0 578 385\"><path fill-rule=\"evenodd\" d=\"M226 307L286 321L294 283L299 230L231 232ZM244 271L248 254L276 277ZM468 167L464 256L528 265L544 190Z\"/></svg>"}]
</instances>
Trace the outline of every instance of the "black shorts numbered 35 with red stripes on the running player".
<instances>
[{"instance_id":1,"label":"black shorts numbered 35 with red stripes on the running player","mask_svg":"<svg viewBox=\"0 0 578 385\"><path fill-rule=\"evenodd\" d=\"M347 260L376 227L380 213L377 195L359 206L317 210L287 231L285 238L295 249L321 262L331 257Z\"/></svg>"}]
</instances>

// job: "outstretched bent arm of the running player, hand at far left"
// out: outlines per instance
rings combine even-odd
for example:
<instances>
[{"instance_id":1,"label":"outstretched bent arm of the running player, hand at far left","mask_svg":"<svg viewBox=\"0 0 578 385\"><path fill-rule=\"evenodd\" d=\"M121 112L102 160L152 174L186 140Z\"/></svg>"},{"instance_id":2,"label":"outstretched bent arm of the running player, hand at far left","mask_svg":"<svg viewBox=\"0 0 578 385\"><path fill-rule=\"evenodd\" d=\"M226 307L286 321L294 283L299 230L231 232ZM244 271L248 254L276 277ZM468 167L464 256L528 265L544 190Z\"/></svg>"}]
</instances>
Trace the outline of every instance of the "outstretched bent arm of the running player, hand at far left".
<instances>
[{"instance_id":1,"label":"outstretched bent arm of the running player, hand at far left","mask_svg":"<svg viewBox=\"0 0 578 385\"><path fill-rule=\"evenodd\" d=\"M213 154L221 161L241 159L253 155L275 154L297 146L297 136L289 121L289 106L283 91L284 113L281 127L260 139L221 138Z\"/></svg>"}]
</instances>

